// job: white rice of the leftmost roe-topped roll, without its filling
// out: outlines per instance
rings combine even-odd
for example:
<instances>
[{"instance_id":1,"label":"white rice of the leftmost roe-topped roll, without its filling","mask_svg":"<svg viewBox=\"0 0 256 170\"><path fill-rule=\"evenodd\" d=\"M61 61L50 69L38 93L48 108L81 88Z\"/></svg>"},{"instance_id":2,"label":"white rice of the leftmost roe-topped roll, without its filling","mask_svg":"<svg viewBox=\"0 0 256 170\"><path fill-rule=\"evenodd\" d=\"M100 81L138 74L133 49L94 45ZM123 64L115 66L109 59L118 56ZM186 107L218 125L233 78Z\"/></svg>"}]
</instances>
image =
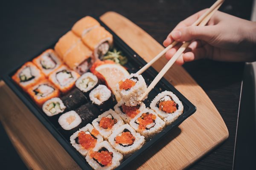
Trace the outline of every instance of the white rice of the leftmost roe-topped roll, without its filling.
<instances>
[{"instance_id":1,"label":"white rice of the leftmost roe-topped roll, without its filling","mask_svg":"<svg viewBox=\"0 0 256 170\"><path fill-rule=\"evenodd\" d=\"M76 131L72 136L70 136L70 143L72 144L73 147L76 148L77 151L79 151L79 153L81 153L83 156L86 156L86 154L88 153L89 150L93 149L93 148L89 148L88 150L85 149L81 144L77 144L76 143L76 138L78 137L79 132L84 131L86 134L91 135L92 130L93 130L93 125L91 124L87 124L86 126L82 127L81 129L79 129L78 131ZM103 138L100 134L98 134L97 136L95 136L97 138L97 142L96 144L98 144L99 142L103 141Z\"/></svg>"}]
</instances>

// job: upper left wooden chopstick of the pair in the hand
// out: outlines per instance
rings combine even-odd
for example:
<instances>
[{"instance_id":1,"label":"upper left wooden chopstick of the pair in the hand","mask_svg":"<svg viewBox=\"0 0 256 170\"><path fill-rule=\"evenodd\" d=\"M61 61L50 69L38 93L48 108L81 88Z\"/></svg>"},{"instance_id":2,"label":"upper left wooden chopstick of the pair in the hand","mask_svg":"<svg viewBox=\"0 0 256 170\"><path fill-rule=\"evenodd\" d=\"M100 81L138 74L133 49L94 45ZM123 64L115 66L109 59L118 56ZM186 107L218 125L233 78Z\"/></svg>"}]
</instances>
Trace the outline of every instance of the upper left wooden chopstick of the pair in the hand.
<instances>
[{"instance_id":1,"label":"upper left wooden chopstick of the pair in the hand","mask_svg":"<svg viewBox=\"0 0 256 170\"><path fill-rule=\"evenodd\" d=\"M224 0L217 0L201 17L198 18L198 20L195 21L195 23L192 24L192 26L197 26L201 21L209 15L212 11L214 11L215 8L219 8L221 4L224 2ZM207 21L208 22L208 21ZM206 24L205 24L206 25ZM157 56L155 56L153 59L151 59L150 62L148 62L146 65L143 66L139 71L137 71L137 74L142 74L145 70L147 70L154 62L156 62L158 59L160 59L164 54L166 54L169 49L173 48L175 45L177 45L177 41L172 42L172 44L168 45L163 51L161 51Z\"/></svg>"}]
</instances>

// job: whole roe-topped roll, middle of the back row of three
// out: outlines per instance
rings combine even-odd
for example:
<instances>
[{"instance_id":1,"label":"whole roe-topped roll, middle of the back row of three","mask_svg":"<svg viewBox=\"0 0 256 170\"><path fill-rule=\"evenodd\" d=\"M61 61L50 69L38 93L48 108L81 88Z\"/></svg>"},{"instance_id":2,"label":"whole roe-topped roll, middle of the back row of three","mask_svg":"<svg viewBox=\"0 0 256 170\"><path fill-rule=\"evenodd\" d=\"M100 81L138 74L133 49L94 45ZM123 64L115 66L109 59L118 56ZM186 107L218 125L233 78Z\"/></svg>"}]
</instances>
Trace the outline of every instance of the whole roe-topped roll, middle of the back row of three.
<instances>
[{"instance_id":1,"label":"whole roe-topped roll, middle of the back row of three","mask_svg":"<svg viewBox=\"0 0 256 170\"><path fill-rule=\"evenodd\" d=\"M112 130L123 125L124 122L115 111L110 109L99 115L97 119L94 119L92 124L103 138L107 139L111 135Z\"/></svg>"}]
</instances>

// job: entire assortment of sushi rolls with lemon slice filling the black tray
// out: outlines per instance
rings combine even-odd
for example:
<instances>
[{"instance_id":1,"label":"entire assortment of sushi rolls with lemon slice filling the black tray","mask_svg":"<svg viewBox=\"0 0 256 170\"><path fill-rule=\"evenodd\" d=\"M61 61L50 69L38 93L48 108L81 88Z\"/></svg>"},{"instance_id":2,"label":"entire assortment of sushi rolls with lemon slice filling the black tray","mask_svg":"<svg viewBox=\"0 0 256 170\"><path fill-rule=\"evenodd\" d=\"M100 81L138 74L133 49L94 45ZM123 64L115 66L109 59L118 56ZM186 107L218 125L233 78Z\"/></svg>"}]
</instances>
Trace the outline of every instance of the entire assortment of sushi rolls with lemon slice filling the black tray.
<instances>
[{"instance_id":1,"label":"entire assortment of sushi rolls with lemon slice filling the black tray","mask_svg":"<svg viewBox=\"0 0 256 170\"><path fill-rule=\"evenodd\" d=\"M183 113L171 91L146 108L139 101L145 80L129 74L125 62L112 34L87 16L12 79L93 169L112 170Z\"/></svg>"}]
</instances>

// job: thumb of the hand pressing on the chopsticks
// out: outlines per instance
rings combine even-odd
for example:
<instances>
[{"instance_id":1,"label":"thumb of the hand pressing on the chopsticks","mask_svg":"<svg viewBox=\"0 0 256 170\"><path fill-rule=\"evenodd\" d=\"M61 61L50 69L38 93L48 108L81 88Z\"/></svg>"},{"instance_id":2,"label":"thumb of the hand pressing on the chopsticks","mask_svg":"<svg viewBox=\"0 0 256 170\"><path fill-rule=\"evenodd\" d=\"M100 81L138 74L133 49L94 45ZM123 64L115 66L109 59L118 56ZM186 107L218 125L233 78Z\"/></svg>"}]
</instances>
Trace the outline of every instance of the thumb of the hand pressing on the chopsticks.
<instances>
[{"instance_id":1,"label":"thumb of the hand pressing on the chopsticks","mask_svg":"<svg viewBox=\"0 0 256 170\"><path fill-rule=\"evenodd\" d=\"M210 42L218 34L214 26L188 26L172 31L171 36L176 41L203 40Z\"/></svg>"}]
</instances>

